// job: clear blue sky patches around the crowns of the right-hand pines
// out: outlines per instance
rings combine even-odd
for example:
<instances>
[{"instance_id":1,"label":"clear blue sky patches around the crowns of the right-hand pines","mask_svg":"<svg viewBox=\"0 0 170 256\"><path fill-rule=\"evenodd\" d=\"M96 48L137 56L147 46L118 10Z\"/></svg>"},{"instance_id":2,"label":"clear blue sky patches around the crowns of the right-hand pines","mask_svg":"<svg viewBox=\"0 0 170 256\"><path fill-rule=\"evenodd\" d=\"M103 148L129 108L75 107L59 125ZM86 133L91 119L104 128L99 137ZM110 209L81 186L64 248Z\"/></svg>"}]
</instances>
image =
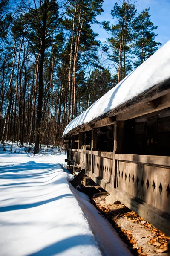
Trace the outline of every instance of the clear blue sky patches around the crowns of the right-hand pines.
<instances>
[{"instance_id":1,"label":"clear blue sky patches around the crowns of the right-hand pines","mask_svg":"<svg viewBox=\"0 0 170 256\"><path fill-rule=\"evenodd\" d=\"M119 0L104 0L104 12L97 17L99 22L108 20L111 24L115 23L110 12L116 2L121 5ZM170 0L139 0L135 3L135 6L139 13L143 9L150 7L150 19L154 23L154 26L158 26L158 29L155 30L155 33L158 34L156 37L157 42L165 44L170 40ZM108 33L100 28L99 25L93 25L92 28L99 34L98 39L102 42L106 41L106 38L109 37Z\"/></svg>"}]
</instances>

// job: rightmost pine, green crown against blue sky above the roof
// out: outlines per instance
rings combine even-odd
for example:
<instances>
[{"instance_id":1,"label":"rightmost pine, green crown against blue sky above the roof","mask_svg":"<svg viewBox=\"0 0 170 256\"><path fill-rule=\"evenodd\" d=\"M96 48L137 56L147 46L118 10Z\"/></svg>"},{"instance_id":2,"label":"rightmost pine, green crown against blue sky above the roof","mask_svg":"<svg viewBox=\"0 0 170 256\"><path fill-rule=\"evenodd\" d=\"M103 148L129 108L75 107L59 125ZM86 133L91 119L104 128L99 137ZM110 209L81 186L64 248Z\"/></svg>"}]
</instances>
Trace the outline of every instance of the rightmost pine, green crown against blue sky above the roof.
<instances>
[{"instance_id":1,"label":"rightmost pine, green crown against blue sky above the roof","mask_svg":"<svg viewBox=\"0 0 170 256\"><path fill-rule=\"evenodd\" d=\"M158 26L154 26L153 22L150 20L149 14L150 8L144 9L141 14L133 21L133 29L135 32L135 44L134 53L137 56L134 66L138 67L147 58L149 58L161 43L155 41L157 34L153 30L157 29Z\"/></svg>"}]
</instances>

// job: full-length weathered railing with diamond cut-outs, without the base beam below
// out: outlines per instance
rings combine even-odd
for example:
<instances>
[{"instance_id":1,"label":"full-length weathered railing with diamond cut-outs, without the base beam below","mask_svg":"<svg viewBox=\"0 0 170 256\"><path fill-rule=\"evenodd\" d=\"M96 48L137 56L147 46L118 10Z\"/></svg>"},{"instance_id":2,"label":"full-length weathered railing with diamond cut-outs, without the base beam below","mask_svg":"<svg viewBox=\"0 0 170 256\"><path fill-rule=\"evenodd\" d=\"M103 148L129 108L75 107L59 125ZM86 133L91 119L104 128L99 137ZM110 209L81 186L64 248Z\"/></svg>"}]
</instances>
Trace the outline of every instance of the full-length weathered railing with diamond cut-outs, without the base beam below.
<instances>
[{"instance_id":1,"label":"full-length weathered railing with diamond cut-outs, without the base beam below","mask_svg":"<svg viewBox=\"0 0 170 256\"><path fill-rule=\"evenodd\" d=\"M111 152L69 151L71 160L81 167L84 163L91 175L109 183L112 188L116 184L121 191L170 214L170 157L115 154L113 159Z\"/></svg>"}]
</instances>

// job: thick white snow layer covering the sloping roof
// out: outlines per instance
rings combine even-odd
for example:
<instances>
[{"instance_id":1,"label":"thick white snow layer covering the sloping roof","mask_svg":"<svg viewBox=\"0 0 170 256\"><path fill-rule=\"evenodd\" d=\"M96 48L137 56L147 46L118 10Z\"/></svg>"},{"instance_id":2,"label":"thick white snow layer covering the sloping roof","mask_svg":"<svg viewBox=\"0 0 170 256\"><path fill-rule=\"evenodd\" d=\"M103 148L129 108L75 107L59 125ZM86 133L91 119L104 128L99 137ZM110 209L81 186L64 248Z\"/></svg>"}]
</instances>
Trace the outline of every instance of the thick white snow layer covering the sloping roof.
<instances>
[{"instance_id":1,"label":"thick white snow layer covering the sloping roof","mask_svg":"<svg viewBox=\"0 0 170 256\"><path fill-rule=\"evenodd\" d=\"M119 84L87 108L84 113L72 120L66 126L63 136L72 129L118 108L167 79L170 79L170 40Z\"/></svg>"}]
</instances>

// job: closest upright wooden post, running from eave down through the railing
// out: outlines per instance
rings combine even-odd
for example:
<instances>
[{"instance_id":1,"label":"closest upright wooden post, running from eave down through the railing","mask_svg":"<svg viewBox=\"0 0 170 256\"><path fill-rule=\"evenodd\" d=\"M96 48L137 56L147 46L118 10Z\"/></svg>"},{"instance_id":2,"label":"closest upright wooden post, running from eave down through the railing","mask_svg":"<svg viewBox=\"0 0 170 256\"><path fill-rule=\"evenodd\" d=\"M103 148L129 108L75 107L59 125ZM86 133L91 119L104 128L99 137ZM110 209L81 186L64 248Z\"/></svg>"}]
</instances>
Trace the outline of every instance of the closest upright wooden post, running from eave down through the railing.
<instances>
[{"instance_id":1,"label":"closest upright wooden post, running from eave down through the railing","mask_svg":"<svg viewBox=\"0 0 170 256\"><path fill-rule=\"evenodd\" d=\"M113 147L113 180L112 186L116 188L117 181L117 166L115 160L115 154L122 153L123 147L123 134L124 134L124 121L115 121L114 127L114 147Z\"/></svg>"}]
</instances>

